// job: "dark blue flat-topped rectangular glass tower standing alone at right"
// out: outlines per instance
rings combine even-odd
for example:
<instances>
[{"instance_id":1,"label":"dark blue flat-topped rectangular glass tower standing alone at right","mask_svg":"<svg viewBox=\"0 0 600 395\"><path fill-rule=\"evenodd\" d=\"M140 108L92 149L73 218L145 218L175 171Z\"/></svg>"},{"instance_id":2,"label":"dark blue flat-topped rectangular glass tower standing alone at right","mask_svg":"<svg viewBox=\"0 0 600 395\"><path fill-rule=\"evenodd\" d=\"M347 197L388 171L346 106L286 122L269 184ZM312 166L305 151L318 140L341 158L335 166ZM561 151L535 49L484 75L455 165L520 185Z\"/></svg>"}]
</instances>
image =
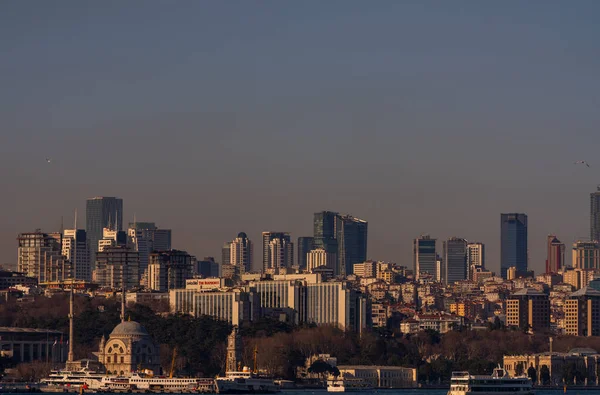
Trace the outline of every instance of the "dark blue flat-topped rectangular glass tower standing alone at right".
<instances>
[{"instance_id":1,"label":"dark blue flat-topped rectangular glass tower standing alone at right","mask_svg":"<svg viewBox=\"0 0 600 395\"><path fill-rule=\"evenodd\" d=\"M500 274L506 278L509 267L517 268L517 275L527 272L527 215L500 214Z\"/></svg>"}]
</instances>

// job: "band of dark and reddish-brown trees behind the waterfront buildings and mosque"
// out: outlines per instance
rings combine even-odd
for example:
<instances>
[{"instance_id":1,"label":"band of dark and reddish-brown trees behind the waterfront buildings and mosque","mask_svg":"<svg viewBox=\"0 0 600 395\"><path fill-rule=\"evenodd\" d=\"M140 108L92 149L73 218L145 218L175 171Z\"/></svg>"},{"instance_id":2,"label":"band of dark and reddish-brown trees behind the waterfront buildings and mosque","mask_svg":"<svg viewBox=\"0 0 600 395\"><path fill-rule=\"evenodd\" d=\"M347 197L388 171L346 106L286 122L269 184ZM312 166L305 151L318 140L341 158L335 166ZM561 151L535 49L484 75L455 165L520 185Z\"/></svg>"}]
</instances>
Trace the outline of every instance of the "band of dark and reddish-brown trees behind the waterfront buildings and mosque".
<instances>
[{"instance_id":1,"label":"band of dark and reddish-brown trees behind the waterfront buildings and mosque","mask_svg":"<svg viewBox=\"0 0 600 395\"><path fill-rule=\"evenodd\" d=\"M76 357L89 357L98 350L102 336L108 337L119 323L116 299L78 296L75 306ZM0 304L0 326L49 328L68 333L68 295L37 298L34 303ZM140 322L161 348L161 366L171 368L174 350L178 374L214 376L226 365L228 323L209 317L157 314L150 307L128 308L131 320ZM504 355L548 351L548 337L490 326L487 330L460 330L440 335L424 331L402 335L387 330L367 331L362 335L329 326L295 327L272 319L244 324L243 363L253 365L253 350L258 349L261 370L276 377L294 379L299 367L315 354L330 354L339 365L392 365L418 369L423 383L447 382L453 370L491 373ZM600 350L598 337L555 337L554 351L575 347Z\"/></svg>"}]
</instances>

